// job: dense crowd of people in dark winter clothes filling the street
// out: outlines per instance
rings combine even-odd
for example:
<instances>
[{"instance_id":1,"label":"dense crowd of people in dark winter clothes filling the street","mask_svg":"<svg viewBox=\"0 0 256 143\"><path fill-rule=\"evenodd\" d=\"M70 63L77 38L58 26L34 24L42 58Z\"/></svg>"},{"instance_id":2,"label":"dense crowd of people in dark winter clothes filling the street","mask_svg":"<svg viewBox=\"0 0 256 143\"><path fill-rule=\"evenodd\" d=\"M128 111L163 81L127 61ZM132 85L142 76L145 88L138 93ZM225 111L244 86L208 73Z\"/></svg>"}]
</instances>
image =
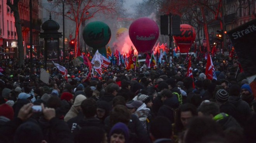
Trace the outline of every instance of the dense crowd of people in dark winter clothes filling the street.
<instances>
[{"instance_id":1,"label":"dense crowd of people in dark winter clothes filling the street","mask_svg":"<svg viewBox=\"0 0 256 143\"><path fill-rule=\"evenodd\" d=\"M184 60L184 59L183 59ZM206 79L204 56L137 70L109 65L102 76L85 65L43 60L0 61L1 143L255 143L256 102L234 57L213 56L217 79ZM194 85L194 86L193 86Z\"/></svg>"}]
</instances>

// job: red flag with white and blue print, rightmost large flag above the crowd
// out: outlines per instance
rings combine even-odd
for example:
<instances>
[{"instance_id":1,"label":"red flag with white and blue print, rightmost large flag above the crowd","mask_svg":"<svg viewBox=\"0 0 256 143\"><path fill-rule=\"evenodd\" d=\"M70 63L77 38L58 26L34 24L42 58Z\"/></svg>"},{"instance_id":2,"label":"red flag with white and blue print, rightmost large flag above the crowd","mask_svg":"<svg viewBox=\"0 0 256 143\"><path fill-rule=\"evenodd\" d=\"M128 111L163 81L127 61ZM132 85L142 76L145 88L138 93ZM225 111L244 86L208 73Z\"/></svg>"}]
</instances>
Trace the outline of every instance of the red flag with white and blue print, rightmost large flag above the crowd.
<instances>
[{"instance_id":1,"label":"red flag with white and blue print, rightmost large flag above the crowd","mask_svg":"<svg viewBox=\"0 0 256 143\"><path fill-rule=\"evenodd\" d=\"M208 78L209 80L212 79L216 79L216 74L215 74L215 69L214 69L214 65L213 65L213 61L211 60L211 55L210 53L208 53L208 57L207 57L207 63L206 63L206 68L205 68L205 75L206 78Z\"/></svg>"}]
</instances>

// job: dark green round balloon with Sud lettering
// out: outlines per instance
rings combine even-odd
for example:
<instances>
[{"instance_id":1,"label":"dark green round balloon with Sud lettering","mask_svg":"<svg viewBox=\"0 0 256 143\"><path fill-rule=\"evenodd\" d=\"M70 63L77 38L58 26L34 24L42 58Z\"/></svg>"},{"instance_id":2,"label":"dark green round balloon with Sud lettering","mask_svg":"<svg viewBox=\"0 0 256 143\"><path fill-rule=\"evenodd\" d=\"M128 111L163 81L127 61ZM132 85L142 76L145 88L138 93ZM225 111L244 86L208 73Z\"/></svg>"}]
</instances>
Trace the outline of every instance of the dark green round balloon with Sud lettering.
<instances>
[{"instance_id":1,"label":"dark green round balloon with Sud lettering","mask_svg":"<svg viewBox=\"0 0 256 143\"><path fill-rule=\"evenodd\" d=\"M104 22L90 22L83 29L83 40L92 48L105 48L110 38L111 30Z\"/></svg>"}]
</instances>

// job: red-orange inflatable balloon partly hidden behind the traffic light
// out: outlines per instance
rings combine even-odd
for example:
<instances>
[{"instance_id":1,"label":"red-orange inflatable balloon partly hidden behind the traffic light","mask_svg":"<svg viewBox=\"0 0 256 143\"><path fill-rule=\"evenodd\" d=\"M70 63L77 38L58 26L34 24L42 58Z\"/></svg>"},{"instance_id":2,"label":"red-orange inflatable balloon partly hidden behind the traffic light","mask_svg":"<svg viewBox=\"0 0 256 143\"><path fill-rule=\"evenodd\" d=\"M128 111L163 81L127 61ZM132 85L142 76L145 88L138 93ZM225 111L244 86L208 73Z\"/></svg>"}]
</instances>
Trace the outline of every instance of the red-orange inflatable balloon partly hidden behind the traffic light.
<instances>
[{"instance_id":1,"label":"red-orange inflatable balloon partly hidden behind the traffic light","mask_svg":"<svg viewBox=\"0 0 256 143\"><path fill-rule=\"evenodd\" d=\"M189 24L180 25L181 34L179 36L173 36L175 43L180 48L180 53L187 53L195 41L195 29Z\"/></svg>"}]
</instances>

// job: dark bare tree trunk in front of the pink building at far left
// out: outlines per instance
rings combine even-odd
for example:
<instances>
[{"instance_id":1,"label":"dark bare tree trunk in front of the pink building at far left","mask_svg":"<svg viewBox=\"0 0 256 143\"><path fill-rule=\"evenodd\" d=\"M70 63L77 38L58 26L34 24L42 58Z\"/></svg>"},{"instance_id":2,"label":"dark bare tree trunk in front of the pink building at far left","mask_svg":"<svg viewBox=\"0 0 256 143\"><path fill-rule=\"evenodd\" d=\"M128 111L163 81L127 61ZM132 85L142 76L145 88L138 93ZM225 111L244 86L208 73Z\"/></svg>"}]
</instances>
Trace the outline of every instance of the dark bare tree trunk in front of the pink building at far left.
<instances>
[{"instance_id":1,"label":"dark bare tree trunk in front of the pink building at far left","mask_svg":"<svg viewBox=\"0 0 256 143\"><path fill-rule=\"evenodd\" d=\"M15 19L15 27L18 38L18 52L19 52L19 67L24 66L24 47L23 47L23 38L22 38L22 30L21 30L21 19L19 17L19 0L7 0L6 4L12 9Z\"/></svg>"}]
</instances>

